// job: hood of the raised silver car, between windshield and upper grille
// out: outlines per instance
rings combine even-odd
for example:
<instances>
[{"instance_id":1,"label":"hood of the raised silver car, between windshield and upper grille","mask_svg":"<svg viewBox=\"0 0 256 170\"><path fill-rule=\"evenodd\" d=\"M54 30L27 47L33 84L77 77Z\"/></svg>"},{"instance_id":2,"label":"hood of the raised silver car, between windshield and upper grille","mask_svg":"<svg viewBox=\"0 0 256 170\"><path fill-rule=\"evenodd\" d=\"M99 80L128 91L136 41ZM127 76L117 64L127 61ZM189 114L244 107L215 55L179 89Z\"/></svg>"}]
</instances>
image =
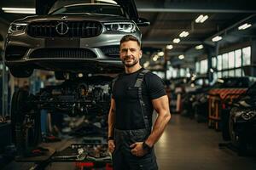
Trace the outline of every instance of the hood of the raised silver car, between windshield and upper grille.
<instances>
[{"instance_id":1,"label":"hood of the raised silver car, between windshield and upper grille","mask_svg":"<svg viewBox=\"0 0 256 170\"><path fill-rule=\"evenodd\" d=\"M65 17L65 19L63 19ZM55 15L33 15L24 19L15 20L15 22L32 22L47 20L97 20L100 22L109 21L130 21L123 16L107 15L107 14L55 14Z\"/></svg>"}]
</instances>

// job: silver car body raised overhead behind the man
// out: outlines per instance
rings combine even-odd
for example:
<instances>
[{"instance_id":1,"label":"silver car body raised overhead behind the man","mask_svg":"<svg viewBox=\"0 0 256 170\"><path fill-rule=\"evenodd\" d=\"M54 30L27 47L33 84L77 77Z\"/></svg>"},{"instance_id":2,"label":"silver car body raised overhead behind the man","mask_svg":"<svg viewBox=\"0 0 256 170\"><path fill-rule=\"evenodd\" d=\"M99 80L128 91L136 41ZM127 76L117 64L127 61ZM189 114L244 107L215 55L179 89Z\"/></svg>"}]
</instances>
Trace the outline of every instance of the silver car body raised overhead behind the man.
<instances>
[{"instance_id":1,"label":"silver car body raised overhead behind the man","mask_svg":"<svg viewBox=\"0 0 256 170\"><path fill-rule=\"evenodd\" d=\"M34 69L111 73L122 69L119 40L126 34L141 40L118 4L66 5L11 23L4 59L14 77L30 77Z\"/></svg>"}]
</instances>

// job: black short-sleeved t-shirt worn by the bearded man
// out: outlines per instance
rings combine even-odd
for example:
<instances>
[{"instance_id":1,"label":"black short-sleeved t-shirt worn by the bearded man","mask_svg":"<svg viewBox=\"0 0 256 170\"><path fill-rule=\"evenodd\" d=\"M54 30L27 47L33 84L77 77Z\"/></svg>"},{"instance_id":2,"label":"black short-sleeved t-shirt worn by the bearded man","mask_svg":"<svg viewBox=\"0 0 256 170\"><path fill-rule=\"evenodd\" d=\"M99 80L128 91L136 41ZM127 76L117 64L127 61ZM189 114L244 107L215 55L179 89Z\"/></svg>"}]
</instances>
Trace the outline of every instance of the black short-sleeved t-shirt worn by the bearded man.
<instances>
[{"instance_id":1,"label":"black short-sleeved t-shirt worn by the bearded man","mask_svg":"<svg viewBox=\"0 0 256 170\"><path fill-rule=\"evenodd\" d=\"M122 130L145 128L142 109L138 99L137 88L134 87L138 74L143 68L131 74L121 74L113 86L112 98L115 100L115 128ZM144 75L143 102L146 105L150 127L152 126L152 114L154 111L151 100L166 95L164 83L160 77L152 72Z\"/></svg>"}]
</instances>

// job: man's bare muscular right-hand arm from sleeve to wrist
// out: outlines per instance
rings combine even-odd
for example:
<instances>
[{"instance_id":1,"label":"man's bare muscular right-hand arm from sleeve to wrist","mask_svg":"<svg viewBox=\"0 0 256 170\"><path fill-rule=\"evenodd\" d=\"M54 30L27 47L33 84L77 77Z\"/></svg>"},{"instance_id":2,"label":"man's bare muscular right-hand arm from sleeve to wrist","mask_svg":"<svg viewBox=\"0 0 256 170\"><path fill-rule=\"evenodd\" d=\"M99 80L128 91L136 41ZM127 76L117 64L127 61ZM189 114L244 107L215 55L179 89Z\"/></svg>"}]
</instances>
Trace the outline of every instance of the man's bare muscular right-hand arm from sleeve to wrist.
<instances>
[{"instance_id":1,"label":"man's bare muscular right-hand arm from sleeve to wrist","mask_svg":"<svg viewBox=\"0 0 256 170\"><path fill-rule=\"evenodd\" d=\"M158 116L154 122L154 127L151 134L145 141L150 147L152 147L160 139L162 133L164 133L167 123L171 119L168 97L166 95L158 99L153 99L152 104L154 106L154 110L158 113Z\"/></svg>"}]
</instances>

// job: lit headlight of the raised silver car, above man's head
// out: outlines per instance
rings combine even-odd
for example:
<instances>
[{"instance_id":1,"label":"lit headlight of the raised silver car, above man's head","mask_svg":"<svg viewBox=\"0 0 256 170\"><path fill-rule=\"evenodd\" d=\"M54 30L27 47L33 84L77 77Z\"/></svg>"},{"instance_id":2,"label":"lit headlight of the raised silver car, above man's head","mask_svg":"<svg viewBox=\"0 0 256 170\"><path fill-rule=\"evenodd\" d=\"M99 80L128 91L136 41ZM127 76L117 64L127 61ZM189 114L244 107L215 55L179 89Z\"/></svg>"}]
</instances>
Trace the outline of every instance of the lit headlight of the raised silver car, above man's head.
<instances>
[{"instance_id":1,"label":"lit headlight of the raised silver car, above man's head","mask_svg":"<svg viewBox=\"0 0 256 170\"><path fill-rule=\"evenodd\" d=\"M120 22L120 23L105 23L107 31L123 31L132 33L136 31L136 26L133 23Z\"/></svg>"}]
</instances>

